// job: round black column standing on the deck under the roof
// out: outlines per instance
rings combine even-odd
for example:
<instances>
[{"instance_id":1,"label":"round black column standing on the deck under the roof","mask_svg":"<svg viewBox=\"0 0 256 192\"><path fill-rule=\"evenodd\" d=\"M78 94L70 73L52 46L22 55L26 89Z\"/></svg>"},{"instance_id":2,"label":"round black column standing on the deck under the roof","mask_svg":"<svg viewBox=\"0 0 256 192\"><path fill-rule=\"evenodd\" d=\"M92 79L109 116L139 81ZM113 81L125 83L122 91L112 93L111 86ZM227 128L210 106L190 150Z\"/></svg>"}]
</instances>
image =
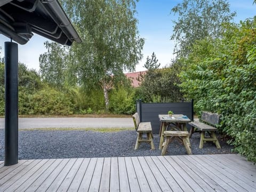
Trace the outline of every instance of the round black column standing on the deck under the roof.
<instances>
[{"instance_id":1,"label":"round black column standing on the deck under the roof","mask_svg":"<svg viewBox=\"0 0 256 192\"><path fill-rule=\"evenodd\" d=\"M18 163L18 44L4 43L5 151L4 165Z\"/></svg>"}]
</instances>

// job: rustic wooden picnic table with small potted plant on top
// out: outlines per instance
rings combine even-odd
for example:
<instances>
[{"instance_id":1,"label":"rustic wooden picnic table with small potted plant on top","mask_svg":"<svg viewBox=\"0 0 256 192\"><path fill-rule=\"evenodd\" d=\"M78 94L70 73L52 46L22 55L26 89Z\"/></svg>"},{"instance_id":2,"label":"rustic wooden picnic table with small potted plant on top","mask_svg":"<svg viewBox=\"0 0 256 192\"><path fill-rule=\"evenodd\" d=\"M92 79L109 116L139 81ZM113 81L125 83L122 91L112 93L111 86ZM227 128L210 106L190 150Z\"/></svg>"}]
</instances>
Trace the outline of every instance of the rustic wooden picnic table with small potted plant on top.
<instances>
[{"instance_id":1,"label":"rustic wooden picnic table with small potted plant on top","mask_svg":"<svg viewBox=\"0 0 256 192\"><path fill-rule=\"evenodd\" d=\"M186 123L191 122L189 118L183 118L184 115L182 114L173 114L172 117L169 115L158 115L159 120L161 122L160 125L160 142L159 142L159 149L162 150L163 142L164 142L164 131L167 129L174 130L174 131L187 131ZM174 126L171 126L174 125Z\"/></svg>"}]
</instances>

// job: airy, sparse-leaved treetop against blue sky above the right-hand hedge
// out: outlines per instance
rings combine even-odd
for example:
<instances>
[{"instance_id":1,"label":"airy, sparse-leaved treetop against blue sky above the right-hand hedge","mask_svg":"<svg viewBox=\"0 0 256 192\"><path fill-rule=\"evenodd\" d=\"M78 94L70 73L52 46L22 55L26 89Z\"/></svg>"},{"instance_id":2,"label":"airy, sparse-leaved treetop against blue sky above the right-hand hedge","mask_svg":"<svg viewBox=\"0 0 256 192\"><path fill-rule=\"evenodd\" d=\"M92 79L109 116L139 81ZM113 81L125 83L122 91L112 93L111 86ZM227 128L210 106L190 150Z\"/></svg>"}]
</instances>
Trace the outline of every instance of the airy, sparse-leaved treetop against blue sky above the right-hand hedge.
<instances>
[{"instance_id":1,"label":"airy, sparse-leaved treetop against blue sky above the right-hand hedge","mask_svg":"<svg viewBox=\"0 0 256 192\"><path fill-rule=\"evenodd\" d=\"M179 15L177 21L173 21L174 33L171 36L177 42L174 52L179 57L187 57L196 40L221 37L222 23L229 22L236 15L230 13L227 0L183 0L171 12Z\"/></svg>"}]
</instances>

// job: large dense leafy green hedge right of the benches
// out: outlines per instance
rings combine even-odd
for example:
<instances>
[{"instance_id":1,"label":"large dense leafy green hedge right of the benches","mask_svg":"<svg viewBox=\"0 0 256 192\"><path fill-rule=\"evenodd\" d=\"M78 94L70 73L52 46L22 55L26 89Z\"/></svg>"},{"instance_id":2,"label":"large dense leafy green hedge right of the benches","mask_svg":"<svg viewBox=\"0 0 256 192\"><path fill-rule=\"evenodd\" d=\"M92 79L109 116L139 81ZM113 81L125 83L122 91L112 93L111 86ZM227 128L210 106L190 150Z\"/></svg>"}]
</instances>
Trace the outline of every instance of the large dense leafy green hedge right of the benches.
<instances>
[{"instance_id":1,"label":"large dense leafy green hedge right of the benches","mask_svg":"<svg viewBox=\"0 0 256 192\"><path fill-rule=\"evenodd\" d=\"M256 162L256 18L226 25L221 39L193 46L181 73L181 89L195 110L222 115L220 131L235 150ZM210 41L209 41L210 40ZM211 49L209 49L211 47ZM202 52L202 54L200 54Z\"/></svg>"}]
</instances>

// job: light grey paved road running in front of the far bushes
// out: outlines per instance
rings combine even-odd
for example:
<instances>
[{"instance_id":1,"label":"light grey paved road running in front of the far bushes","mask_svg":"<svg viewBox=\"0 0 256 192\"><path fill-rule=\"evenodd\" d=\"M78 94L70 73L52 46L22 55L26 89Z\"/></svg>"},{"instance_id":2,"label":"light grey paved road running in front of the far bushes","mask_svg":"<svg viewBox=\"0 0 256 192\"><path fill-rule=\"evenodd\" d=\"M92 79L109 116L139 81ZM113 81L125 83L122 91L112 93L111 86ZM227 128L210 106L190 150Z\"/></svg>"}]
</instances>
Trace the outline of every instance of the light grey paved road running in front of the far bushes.
<instances>
[{"instance_id":1,"label":"light grey paved road running in front of the far bushes","mask_svg":"<svg viewBox=\"0 0 256 192\"><path fill-rule=\"evenodd\" d=\"M19 129L33 128L130 128L134 127L132 118L91 118L91 117L56 117L56 118L19 118ZM0 129L4 129L4 118L0 118Z\"/></svg>"}]
</instances>

